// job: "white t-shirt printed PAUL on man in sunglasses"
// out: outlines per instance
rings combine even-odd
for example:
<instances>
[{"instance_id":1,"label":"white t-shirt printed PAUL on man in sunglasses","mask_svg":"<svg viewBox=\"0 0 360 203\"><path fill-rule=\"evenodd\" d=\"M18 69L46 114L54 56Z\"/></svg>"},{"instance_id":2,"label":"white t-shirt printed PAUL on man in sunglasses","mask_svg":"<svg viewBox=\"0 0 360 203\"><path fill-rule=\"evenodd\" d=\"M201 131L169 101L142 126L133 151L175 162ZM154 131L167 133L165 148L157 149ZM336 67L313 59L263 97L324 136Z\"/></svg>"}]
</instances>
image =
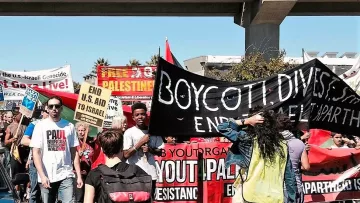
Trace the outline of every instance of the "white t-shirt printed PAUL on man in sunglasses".
<instances>
[{"instance_id":1,"label":"white t-shirt printed PAUL on man in sunglasses","mask_svg":"<svg viewBox=\"0 0 360 203\"><path fill-rule=\"evenodd\" d=\"M50 118L36 124L30 142L30 147L40 149L43 170L51 183L75 177L70 148L78 145L72 123L64 119L54 122ZM41 182L39 174L38 180Z\"/></svg>"}]
</instances>

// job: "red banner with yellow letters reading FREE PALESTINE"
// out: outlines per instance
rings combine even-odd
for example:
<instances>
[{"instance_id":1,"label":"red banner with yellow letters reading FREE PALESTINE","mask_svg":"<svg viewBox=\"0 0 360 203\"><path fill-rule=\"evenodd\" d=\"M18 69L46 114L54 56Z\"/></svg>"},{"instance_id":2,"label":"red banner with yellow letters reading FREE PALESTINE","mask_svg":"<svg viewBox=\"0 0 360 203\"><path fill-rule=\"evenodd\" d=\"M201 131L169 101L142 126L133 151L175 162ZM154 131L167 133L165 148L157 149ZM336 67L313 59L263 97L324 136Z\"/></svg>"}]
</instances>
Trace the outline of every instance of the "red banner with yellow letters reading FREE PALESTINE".
<instances>
[{"instance_id":1,"label":"red banner with yellow letters reading FREE PALESTINE","mask_svg":"<svg viewBox=\"0 0 360 203\"><path fill-rule=\"evenodd\" d=\"M98 85L122 101L151 100L154 66L98 66Z\"/></svg>"}]
</instances>

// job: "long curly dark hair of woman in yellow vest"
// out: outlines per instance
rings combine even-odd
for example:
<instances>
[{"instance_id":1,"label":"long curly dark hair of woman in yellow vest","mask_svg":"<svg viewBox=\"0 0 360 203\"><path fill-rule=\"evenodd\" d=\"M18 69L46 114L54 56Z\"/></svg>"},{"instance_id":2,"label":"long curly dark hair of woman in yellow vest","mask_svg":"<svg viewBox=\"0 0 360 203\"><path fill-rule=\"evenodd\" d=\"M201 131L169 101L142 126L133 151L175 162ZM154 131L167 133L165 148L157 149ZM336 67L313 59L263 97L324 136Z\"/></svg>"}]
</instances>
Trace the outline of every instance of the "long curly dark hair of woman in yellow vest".
<instances>
[{"instance_id":1,"label":"long curly dark hair of woman in yellow vest","mask_svg":"<svg viewBox=\"0 0 360 203\"><path fill-rule=\"evenodd\" d=\"M254 108L250 111L249 116L258 113L264 117L264 123L249 126L247 133L257 139L261 157L266 161L272 161L275 155L280 153L280 158L285 158L285 152L281 147L284 138L277 127L274 111Z\"/></svg>"}]
</instances>

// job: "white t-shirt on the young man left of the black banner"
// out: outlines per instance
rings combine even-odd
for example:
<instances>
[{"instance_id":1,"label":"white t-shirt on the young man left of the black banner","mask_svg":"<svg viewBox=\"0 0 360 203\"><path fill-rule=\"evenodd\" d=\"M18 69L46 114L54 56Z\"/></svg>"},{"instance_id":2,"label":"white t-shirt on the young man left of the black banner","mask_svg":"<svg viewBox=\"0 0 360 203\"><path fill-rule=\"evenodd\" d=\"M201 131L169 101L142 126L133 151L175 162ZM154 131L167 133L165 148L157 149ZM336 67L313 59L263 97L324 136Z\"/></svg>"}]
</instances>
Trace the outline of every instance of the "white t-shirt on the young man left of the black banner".
<instances>
[{"instance_id":1,"label":"white t-shirt on the young man left of the black banner","mask_svg":"<svg viewBox=\"0 0 360 203\"><path fill-rule=\"evenodd\" d=\"M147 133L147 130L140 130L136 126L127 129L124 134L124 150L128 150L134 147ZM150 136L148 146L151 148L163 149L164 142L160 136ZM146 173L151 175L153 180L157 180L158 172L153 154L147 153L147 155L144 156L144 153L141 151L140 148L131 157L127 159L127 163L138 165Z\"/></svg>"}]
</instances>

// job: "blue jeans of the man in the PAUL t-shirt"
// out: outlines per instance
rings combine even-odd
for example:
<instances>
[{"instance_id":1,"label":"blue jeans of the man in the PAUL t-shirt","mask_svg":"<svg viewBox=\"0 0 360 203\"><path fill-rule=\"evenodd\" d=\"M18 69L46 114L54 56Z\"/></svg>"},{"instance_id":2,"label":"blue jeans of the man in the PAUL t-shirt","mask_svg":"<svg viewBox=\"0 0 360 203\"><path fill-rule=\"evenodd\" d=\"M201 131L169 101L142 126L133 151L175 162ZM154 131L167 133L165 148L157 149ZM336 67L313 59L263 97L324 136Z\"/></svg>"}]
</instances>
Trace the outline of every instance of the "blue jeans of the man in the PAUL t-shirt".
<instances>
[{"instance_id":1,"label":"blue jeans of the man in the PAUL t-shirt","mask_svg":"<svg viewBox=\"0 0 360 203\"><path fill-rule=\"evenodd\" d=\"M60 200L61 203L73 203L73 182L74 178L66 178L55 183L50 183L51 188L44 188L40 184L43 203L55 203L56 200Z\"/></svg>"}]
</instances>

